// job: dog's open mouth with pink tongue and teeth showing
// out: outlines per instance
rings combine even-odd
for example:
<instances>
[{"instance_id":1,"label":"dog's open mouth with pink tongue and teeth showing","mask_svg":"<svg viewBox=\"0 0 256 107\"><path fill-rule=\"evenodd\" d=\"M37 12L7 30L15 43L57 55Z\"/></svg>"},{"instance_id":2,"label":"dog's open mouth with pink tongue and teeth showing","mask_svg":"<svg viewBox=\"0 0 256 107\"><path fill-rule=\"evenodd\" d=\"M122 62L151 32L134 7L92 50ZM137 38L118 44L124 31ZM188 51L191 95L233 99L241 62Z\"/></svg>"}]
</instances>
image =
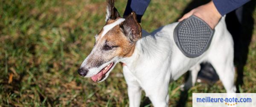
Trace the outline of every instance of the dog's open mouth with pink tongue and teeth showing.
<instances>
[{"instance_id":1,"label":"dog's open mouth with pink tongue and teeth showing","mask_svg":"<svg viewBox=\"0 0 256 107\"><path fill-rule=\"evenodd\" d=\"M100 70L98 74L93 75L93 77L91 77L91 79L94 82L99 82L99 81L103 80L105 78L106 74L108 73L108 71L113 67L113 65L114 65L114 63L108 64L108 66L106 66L102 70Z\"/></svg>"}]
</instances>

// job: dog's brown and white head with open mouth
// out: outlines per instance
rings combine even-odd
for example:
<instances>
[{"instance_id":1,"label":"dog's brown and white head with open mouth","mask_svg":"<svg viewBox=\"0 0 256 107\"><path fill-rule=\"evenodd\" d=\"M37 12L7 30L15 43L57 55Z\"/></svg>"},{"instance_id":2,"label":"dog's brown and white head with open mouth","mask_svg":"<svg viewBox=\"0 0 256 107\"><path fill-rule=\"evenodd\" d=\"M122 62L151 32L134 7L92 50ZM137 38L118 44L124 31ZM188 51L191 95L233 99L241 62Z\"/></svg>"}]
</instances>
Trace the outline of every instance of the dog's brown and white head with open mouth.
<instances>
[{"instance_id":1,"label":"dog's brown and white head with open mouth","mask_svg":"<svg viewBox=\"0 0 256 107\"><path fill-rule=\"evenodd\" d=\"M141 38L141 27L132 12L125 19L119 16L114 0L107 0L106 24L95 36L95 45L81 64L78 73L94 82L104 81L122 58L130 57L136 41Z\"/></svg>"}]
</instances>

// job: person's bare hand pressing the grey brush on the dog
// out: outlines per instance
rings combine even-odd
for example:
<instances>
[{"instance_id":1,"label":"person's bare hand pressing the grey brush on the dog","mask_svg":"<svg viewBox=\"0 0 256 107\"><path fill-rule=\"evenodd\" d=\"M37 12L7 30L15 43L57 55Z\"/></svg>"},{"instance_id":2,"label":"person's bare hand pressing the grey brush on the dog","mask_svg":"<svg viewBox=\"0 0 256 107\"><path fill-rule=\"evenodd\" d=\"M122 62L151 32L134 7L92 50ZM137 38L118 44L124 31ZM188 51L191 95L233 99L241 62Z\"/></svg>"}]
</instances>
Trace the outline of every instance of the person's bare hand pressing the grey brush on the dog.
<instances>
[{"instance_id":1,"label":"person's bare hand pressing the grey brush on the dog","mask_svg":"<svg viewBox=\"0 0 256 107\"><path fill-rule=\"evenodd\" d=\"M195 15L203 19L212 29L218 24L219 20L221 19L221 14L218 12L212 1L189 11L189 13L185 14L178 21L180 22L191 15Z\"/></svg>"}]
</instances>

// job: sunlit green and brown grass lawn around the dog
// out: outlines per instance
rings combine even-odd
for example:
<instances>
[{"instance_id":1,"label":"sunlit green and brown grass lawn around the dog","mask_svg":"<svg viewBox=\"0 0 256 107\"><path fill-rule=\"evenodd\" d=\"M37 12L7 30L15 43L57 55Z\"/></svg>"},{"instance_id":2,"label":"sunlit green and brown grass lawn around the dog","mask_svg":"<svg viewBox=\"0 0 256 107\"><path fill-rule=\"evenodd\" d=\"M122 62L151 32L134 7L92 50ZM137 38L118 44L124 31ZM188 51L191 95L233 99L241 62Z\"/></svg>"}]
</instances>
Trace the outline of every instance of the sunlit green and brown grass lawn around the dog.
<instances>
[{"instance_id":1,"label":"sunlit green and brown grass lawn around the dog","mask_svg":"<svg viewBox=\"0 0 256 107\"><path fill-rule=\"evenodd\" d=\"M151 0L142 27L153 31L180 17L191 0ZM117 0L122 14L126 0ZM77 74L105 24L105 0L0 0L0 107L128 107L121 65L95 83ZM256 21L256 11L253 11ZM253 24L256 27L256 24ZM244 66L244 93L256 93L256 30ZM9 77L13 75L12 81ZM180 98L184 76L169 85L169 105ZM197 84L192 93L224 93L221 82ZM142 102L147 101L143 93ZM146 103L147 106L149 103Z\"/></svg>"}]
</instances>

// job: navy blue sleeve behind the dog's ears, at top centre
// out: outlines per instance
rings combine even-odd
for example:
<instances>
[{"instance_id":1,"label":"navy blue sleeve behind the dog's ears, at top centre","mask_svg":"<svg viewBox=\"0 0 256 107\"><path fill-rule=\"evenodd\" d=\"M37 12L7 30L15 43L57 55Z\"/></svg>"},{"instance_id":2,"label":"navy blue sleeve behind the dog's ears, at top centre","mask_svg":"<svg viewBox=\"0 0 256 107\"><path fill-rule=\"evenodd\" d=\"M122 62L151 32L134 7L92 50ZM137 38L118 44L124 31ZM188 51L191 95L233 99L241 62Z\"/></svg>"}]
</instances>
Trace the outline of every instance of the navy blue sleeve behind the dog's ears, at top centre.
<instances>
[{"instance_id":1,"label":"navy blue sleeve behind the dog's ears, at top centre","mask_svg":"<svg viewBox=\"0 0 256 107\"><path fill-rule=\"evenodd\" d=\"M134 11L137 14L138 22L140 22L149 3L150 0L128 0L123 16L128 16L132 11Z\"/></svg>"}]
</instances>

